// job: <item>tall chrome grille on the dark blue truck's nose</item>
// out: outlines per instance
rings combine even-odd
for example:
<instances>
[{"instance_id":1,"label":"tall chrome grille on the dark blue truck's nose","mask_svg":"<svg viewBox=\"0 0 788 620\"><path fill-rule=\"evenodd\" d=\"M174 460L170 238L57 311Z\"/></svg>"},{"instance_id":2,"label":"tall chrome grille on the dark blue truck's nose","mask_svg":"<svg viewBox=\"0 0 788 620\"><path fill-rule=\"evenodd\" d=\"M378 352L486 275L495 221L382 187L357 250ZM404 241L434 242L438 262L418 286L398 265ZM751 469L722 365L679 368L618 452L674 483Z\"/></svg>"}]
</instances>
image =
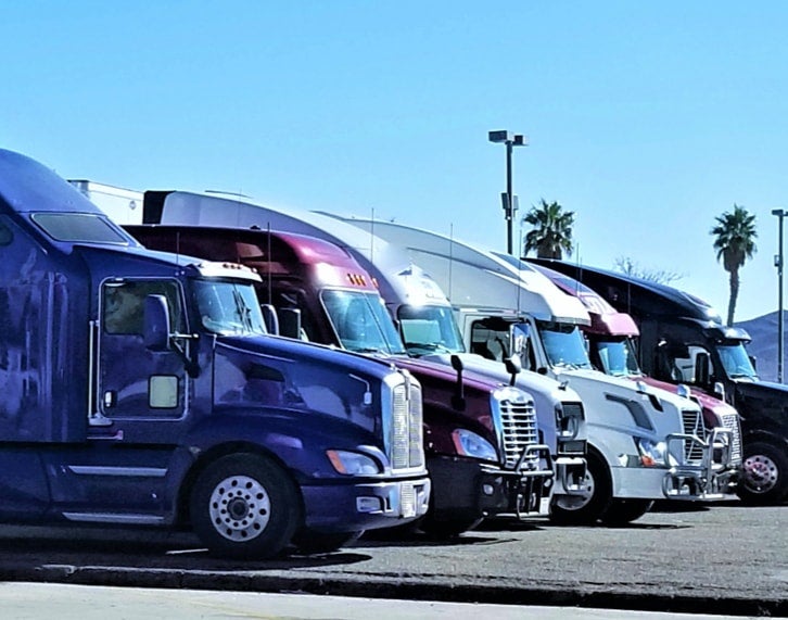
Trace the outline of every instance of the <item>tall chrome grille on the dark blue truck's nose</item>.
<instances>
[{"instance_id":1,"label":"tall chrome grille on the dark blue truck's nose","mask_svg":"<svg viewBox=\"0 0 788 620\"><path fill-rule=\"evenodd\" d=\"M393 395L392 468L423 467L421 387L406 381L394 388Z\"/></svg>"}]
</instances>

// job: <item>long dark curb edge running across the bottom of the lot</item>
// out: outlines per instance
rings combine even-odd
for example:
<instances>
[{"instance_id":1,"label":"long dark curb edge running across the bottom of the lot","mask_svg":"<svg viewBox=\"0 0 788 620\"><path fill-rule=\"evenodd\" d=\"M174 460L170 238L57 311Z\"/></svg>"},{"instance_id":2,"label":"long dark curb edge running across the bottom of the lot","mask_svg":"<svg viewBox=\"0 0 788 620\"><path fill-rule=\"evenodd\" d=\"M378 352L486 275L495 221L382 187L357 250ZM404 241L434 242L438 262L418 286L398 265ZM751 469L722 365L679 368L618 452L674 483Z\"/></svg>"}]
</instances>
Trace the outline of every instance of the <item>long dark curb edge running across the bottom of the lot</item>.
<instances>
[{"instance_id":1,"label":"long dark curb edge running across the bottom of the lot","mask_svg":"<svg viewBox=\"0 0 788 620\"><path fill-rule=\"evenodd\" d=\"M788 599L754 599L740 596L711 597L690 593L638 592L632 587L603 589L580 585L568 587L512 585L479 580L447 583L446 578L429 575L376 574L335 575L294 573L292 571L202 571L183 569L147 569L43 565L39 567L3 566L0 579L79 585L120 587L160 587L223 590L239 592L304 593L334 596L363 596L407 600L452 603L490 603L501 605L546 605L606 608L675 613L719 613L726 616L788 616Z\"/></svg>"}]
</instances>

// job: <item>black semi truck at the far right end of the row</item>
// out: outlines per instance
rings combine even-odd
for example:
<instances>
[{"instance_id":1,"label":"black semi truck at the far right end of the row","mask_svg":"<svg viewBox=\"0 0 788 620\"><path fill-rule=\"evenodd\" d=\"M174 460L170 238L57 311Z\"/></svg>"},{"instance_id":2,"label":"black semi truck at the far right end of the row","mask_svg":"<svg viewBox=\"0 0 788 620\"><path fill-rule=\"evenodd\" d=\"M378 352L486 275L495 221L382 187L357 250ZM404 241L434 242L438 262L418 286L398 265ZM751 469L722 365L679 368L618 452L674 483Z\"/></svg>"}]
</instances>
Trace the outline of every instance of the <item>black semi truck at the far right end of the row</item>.
<instances>
[{"instance_id":1,"label":"black semi truck at the far right end of the row","mask_svg":"<svg viewBox=\"0 0 788 620\"><path fill-rule=\"evenodd\" d=\"M737 494L749 504L788 498L788 387L762 381L747 354L749 334L723 325L703 300L674 287L561 261L539 261L598 292L637 322L645 372L726 401L741 416Z\"/></svg>"}]
</instances>

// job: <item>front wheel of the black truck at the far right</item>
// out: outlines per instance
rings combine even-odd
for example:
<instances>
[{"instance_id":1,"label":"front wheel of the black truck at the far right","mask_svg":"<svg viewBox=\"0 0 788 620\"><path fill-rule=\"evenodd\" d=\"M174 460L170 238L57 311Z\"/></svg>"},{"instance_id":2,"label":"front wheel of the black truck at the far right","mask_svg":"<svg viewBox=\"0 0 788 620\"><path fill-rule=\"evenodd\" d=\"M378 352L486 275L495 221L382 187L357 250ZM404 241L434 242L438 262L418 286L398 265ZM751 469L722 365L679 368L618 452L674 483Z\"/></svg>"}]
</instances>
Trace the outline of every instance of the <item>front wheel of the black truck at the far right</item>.
<instances>
[{"instance_id":1,"label":"front wheel of the black truck at the far right","mask_svg":"<svg viewBox=\"0 0 788 620\"><path fill-rule=\"evenodd\" d=\"M737 495L753 506L779 504L788 496L788 455L785 448L755 441L745 445Z\"/></svg>"}]
</instances>

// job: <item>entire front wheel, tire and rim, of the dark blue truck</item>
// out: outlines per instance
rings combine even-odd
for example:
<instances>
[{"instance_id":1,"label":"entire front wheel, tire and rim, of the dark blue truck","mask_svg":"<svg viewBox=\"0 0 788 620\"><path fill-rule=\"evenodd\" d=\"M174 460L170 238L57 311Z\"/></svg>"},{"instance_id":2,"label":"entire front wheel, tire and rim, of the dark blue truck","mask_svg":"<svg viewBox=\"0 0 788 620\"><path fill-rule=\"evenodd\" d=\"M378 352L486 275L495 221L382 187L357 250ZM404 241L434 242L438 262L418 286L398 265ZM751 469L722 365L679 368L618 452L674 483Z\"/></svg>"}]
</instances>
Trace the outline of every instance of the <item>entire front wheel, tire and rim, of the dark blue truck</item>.
<instances>
[{"instance_id":1,"label":"entire front wheel, tire and rim, of the dark blue truck","mask_svg":"<svg viewBox=\"0 0 788 620\"><path fill-rule=\"evenodd\" d=\"M200 473L190 516L212 554L267 559L290 543L302 510L298 492L281 467L263 456L231 454Z\"/></svg>"}]
</instances>

